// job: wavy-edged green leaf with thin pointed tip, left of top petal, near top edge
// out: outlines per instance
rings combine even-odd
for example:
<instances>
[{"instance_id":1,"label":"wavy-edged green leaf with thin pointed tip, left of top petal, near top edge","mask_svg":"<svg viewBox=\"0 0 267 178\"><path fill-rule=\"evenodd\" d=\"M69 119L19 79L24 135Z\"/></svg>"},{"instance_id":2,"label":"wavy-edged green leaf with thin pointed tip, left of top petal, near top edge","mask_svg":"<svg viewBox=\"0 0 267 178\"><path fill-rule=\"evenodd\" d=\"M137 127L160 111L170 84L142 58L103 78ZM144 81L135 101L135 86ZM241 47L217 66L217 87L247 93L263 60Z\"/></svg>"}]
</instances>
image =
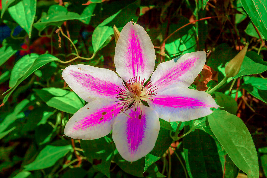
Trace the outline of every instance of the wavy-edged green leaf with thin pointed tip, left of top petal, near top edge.
<instances>
[{"instance_id":1,"label":"wavy-edged green leaf with thin pointed tip, left of top petal, near top edge","mask_svg":"<svg viewBox=\"0 0 267 178\"><path fill-rule=\"evenodd\" d=\"M82 15L79 15L75 12L69 12L67 8L63 6L52 5L48 9L47 13L42 13L41 19L38 22L34 23L34 27L37 30L42 31L43 29L45 29L45 27L50 25L61 26L66 20L81 20L82 22L85 22L87 24L90 22L92 13L93 8L86 7Z\"/></svg>"}]
</instances>

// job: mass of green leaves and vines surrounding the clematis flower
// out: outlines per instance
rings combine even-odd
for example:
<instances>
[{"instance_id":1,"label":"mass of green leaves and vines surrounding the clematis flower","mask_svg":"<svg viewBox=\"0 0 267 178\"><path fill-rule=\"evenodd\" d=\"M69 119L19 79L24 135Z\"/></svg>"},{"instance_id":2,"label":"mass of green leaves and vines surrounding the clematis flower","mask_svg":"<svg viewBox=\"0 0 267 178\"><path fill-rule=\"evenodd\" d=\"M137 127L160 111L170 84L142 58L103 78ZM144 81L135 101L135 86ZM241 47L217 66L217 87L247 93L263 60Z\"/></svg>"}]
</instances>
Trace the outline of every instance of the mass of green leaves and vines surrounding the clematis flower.
<instances>
[{"instance_id":1,"label":"mass of green leaves and vines surrounding the clematis flower","mask_svg":"<svg viewBox=\"0 0 267 178\"><path fill-rule=\"evenodd\" d=\"M0 177L267 177L266 1L2 0ZM210 91L249 42L239 73L212 93L221 108L197 120L166 122L154 149L130 163L111 133L63 135L85 105L62 79L70 64L115 70L113 26L134 21L155 47L156 65L207 51ZM206 83L205 83L206 85ZM203 89L203 90L206 90ZM207 91L207 92L208 92Z\"/></svg>"}]
</instances>

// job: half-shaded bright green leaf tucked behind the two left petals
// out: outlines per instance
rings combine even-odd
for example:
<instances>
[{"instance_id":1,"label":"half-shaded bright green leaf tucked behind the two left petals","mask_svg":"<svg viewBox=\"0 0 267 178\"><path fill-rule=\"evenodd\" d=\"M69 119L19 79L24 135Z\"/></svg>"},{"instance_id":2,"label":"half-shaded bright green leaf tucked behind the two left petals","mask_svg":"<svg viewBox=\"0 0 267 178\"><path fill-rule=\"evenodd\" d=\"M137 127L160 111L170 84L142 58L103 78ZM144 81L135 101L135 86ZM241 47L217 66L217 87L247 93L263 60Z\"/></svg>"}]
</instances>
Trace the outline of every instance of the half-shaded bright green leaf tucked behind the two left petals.
<instances>
[{"instance_id":1,"label":"half-shaded bright green leaf tucked behind the two left petals","mask_svg":"<svg viewBox=\"0 0 267 178\"><path fill-rule=\"evenodd\" d=\"M63 112L74 114L84 106L81 99L73 91L51 87L35 90L35 92L48 106Z\"/></svg>"}]
</instances>

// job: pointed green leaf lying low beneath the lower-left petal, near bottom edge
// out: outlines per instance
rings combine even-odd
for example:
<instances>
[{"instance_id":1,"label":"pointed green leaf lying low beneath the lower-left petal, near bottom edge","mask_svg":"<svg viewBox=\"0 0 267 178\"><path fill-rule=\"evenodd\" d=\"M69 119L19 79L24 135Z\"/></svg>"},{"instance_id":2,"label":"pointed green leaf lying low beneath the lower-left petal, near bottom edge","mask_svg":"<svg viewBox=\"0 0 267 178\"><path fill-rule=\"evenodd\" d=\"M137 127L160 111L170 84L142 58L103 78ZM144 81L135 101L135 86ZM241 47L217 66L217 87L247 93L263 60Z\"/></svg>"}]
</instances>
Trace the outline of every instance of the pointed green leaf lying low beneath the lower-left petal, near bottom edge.
<instances>
[{"instance_id":1,"label":"pointed green leaf lying low beneath the lower-left petal, near bottom edge","mask_svg":"<svg viewBox=\"0 0 267 178\"><path fill-rule=\"evenodd\" d=\"M57 160L65 156L69 151L73 151L71 145L60 147L47 145L32 163L24 166L24 170L33 171L53 166Z\"/></svg>"}]
</instances>

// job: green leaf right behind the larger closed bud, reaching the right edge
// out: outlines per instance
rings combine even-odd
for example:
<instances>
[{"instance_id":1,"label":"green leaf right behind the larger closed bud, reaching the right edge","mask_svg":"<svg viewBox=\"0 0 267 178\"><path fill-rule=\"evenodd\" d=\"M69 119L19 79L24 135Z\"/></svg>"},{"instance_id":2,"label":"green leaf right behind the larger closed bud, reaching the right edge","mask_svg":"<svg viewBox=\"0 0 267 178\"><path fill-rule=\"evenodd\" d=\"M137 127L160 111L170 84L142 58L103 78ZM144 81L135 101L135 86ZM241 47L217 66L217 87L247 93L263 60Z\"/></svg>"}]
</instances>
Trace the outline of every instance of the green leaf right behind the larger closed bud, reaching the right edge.
<instances>
[{"instance_id":1,"label":"green leaf right behind the larger closed bud, reaching the right edge","mask_svg":"<svg viewBox=\"0 0 267 178\"><path fill-rule=\"evenodd\" d=\"M263 61L260 55L254 51L248 53L249 57L245 56L239 73L233 79L243 75L259 74L267 70L267 62Z\"/></svg>"}]
</instances>

